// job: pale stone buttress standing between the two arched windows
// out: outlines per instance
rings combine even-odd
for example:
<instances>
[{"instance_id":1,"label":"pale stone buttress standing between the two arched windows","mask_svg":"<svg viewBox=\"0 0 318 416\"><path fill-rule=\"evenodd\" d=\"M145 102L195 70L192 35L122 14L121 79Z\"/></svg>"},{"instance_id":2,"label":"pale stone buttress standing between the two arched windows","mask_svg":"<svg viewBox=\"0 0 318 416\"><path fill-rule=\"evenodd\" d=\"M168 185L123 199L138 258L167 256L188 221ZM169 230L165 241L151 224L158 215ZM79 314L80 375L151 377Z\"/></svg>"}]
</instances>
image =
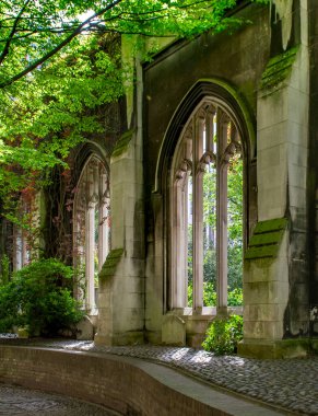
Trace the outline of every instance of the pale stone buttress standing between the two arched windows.
<instances>
[{"instance_id":1,"label":"pale stone buttress standing between the two arched windows","mask_svg":"<svg viewBox=\"0 0 318 416\"><path fill-rule=\"evenodd\" d=\"M125 132L110 158L111 251L101 271L97 344L143 343L144 212L142 73L137 63L137 128ZM118 255L118 253L121 253Z\"/></svg>"}]
</instances>

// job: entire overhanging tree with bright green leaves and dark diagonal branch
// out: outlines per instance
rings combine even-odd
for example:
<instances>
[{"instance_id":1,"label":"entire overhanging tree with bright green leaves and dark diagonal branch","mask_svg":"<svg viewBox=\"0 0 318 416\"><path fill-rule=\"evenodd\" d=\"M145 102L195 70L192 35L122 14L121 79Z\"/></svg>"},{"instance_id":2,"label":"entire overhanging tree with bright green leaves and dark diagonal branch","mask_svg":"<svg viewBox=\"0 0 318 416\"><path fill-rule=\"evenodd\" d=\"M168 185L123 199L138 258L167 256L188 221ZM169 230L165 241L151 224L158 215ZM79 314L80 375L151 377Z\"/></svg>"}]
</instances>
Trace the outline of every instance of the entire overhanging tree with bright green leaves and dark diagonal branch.
<instances>
[{"instance_id":1,"label":"entire overhanging tree with bright green leaves and dark diagonal branch","mask_svg":"<svg viewBox=\"0 0 318 416\"><path fill-rule=\"evenodd\" d=\"M118 55L101 48L101 35L220 31L237 23L225 15L236 2L1 0L0 197L64 163L70 148L101 128L94 108L122 94Z\"/></svg>"}]
</instances>

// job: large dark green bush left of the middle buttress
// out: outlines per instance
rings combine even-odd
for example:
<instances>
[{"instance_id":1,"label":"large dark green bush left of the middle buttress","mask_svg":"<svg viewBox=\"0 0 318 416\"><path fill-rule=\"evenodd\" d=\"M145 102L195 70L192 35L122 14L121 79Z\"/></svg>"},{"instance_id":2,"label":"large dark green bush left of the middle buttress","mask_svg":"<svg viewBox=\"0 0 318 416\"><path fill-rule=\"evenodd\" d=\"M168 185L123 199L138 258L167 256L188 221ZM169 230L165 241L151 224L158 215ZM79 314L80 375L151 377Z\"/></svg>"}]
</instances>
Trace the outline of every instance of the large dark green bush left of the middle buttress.
<instances>
[{"instance_id":1,"label":"large dark green bush left of the middle buttress","mask_svg":"<svg viewBox=\"0 0 318 416\"><path fill-rule=\"evenodd\" d=\"M26 326L31 335L57 335L83 316L71 296L72 267L40 259L23 267L0 287L0 332Z\"/></svg>"}]
</instances>

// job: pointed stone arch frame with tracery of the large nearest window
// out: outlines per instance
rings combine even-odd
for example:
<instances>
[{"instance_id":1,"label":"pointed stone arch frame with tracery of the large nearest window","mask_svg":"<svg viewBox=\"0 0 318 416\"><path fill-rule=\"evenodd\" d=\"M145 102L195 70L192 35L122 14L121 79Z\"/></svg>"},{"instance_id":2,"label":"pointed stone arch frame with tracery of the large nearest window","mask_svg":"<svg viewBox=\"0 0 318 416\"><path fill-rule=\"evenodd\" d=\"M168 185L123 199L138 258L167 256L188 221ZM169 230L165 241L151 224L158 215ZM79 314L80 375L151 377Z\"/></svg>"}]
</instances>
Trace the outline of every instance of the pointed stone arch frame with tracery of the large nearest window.
<instances>
[{"instance_id":1,"label":"pointed stone arch frame with tracery of the large nearest window","mask_svg":"<svg viewBox=\"0 0 318 416\"><path fill-rule=\"evenodd\" d=\"M167 292L167 296L166 296L167 304L165 305L165 310L175 310L175 309L180 309L180 308L182 309L184 307L187 305L184 300L186 289L182 288L181 294L180 292L178 292L180 281L182 279L177 276L179 274L178 270L181 270L182 273L182 266L184 268L187 267L186 266L187 261L185 258L182 259L182 255L180 254L180 245L182 244L185 245L187 243L182 243L182 242L180 243L180 241L182 241L181 234L178 235L178 232L180 232L179 226L182 222L182 219L180 218L180 212L182 210L184 212L186 212L185 209L180 208L181 207L180 200L182 198L181 195L185 195L185 193L182 194L182 192L180 190L180 187L184 186L182 181L185 182L185 177L187 175L192 175L192 173L189 173L189 172L197 171L199 169L200 163L202 165L202 172L203 172L204 166L211 163L213 158L215 159L214 162L216 162L216 155L213 154L213 152L209 153L210 149L205 148L204 151L201 152L202 153L200 155L201 160L198 160L196 162L196 166L191 165L192 164L191 158L187 158L187 155L185 155L185 158L181 158L182 160L180 160L178 155L177 157L178 163L179 162L181 163L179 163L178 169L176 169L176 152L180 153L180 149L179 149L179 143L181 141L180 138L182 138L182 141L185 141L185 137L187 135L191 137L192 132L188 131L189 127L195 128L195 129L201 128L201 127L195 126L197 122L195 122L193 126L191 127L189 120L192 120L196 117L197 118L202 117L202 119L205 117L204 119L208 119L209 117L207 118L207 115L202 115L202 114L204 112L209 112L209 107L219 108L219 109L215 109L215 112L216 111L219 112L217 117L221 117L221 113L222 113L223 114L222 116L224 116L227 119L226 123L228 124L228 126L232 126L229 130L232 130L233 134L229 132L229 136L232 135L233 139L231 138L231 140L225 146L226 151L228 150L227 162L229 158L232 157L231 153L234 154L238 150L238 148L240 149L239 151L242 152L242 158L243 158L244 184L245 184L243 188L243 201L245 206L244 211L243 211L243 219L242 219L243 222L246 222L245 220L248 217L248 203L247 203L248 188L249 188L248 187L248 181L249 181L248 167L249 167L249 162L255 154L255 130L254 130L251 117L249 116L247 112L244 101L239 97L238 93L235 92L235 90L232 86L228 86L224 82L221 82L221 81L217 81L217 82L212 82L211 80L198 81L196 85L188 92L186 97L182 100L181 104L178 106L167 128L165 140L161 149L161 155L160 155L157 171L156 171L157 172L156 192L163 195L164 217L166 219L165 221L166 250L165 250L165 255L164 255L164 258L165 258L164 262L166 264L165 287L166 287L166 292ZM207 124L208 122L204 122L204 123ZM208 127L205 126L204 128L208 128ZM235 139L235 137L239 139ZM232 150L229 148L232 148ZM221 176L220 173L217 173L217 175L219 175L219 181L222 181L220 180L220 176ZM178 185L175 185L174 181L176 181L175 183L178 183ZM195 183L195 178L193 178L193 183ZM196 187L197 185L193 185L193 186ZM197 187L200 187L200 186L202 185L198 185ZM217 185L217 186L219 188L222 187L221 185ZM220 195L217 196L217 200L219 200L217 209L220 209L220 199L221 199ZM182 204L185 206L185 203ZM226 205L226 201L223 201L223 206L224 205ZM197 209L197 211L198 209L200 210L200 208L195 208L195 209ZM187 216L188 213L185 213L184 217L187 217ZM197 221L197 223L200 223L200 221L199 222ZM217 231L219 235L222 234L222 232L224 233L224 231L222 231L221 226L217 226L217 227L219 227L219 231ZM247 234L248 234L248 227L246 227L246 230L244 232L244 238L243 238L244 245L246 244L246 241L247 241ZM222 266L222 261L220 259L222 257L222 253L220 254L220 236L217 239L219 239L219 249L217 249L219 254L216 258L216 263L219 264L217 266L219 267L217 307L219 307L219 310L221 311L222 309L224 310L227 307L227 303L226 303L227 300L226 300L226 293L225 293L227 286L226 286L226 279L224 278L227 271L226 271L226 267ZM193 241L196 241L196 236L193 236ZM226 244L226 239L224 240L222 244L223 246ZM176 252L176 247L177 247L177 252ZM197 253L198 252L200 253L199 256L202 257L202 250L197 247ZM224 255L226 254L223 254L223 257ZM185 256L187 255L185 254ZM195 258L195 254L193 254L193 258ZM176 265L176 262L179 262L180 264ZM193 261L193 268L196 267L197 266L195 265L195 261ZM223 274L223 280L222 280L223 287L220 280L221 268L224 268L224 270L221 273ZM197 274L199 273L197 271ZM224 288L224 285L225 285L225 288ZM197 310L201 310L203 308L202 278L199 285L196 284L196 281L193 280L193 308Z\"/></svg>"}]
</instances>

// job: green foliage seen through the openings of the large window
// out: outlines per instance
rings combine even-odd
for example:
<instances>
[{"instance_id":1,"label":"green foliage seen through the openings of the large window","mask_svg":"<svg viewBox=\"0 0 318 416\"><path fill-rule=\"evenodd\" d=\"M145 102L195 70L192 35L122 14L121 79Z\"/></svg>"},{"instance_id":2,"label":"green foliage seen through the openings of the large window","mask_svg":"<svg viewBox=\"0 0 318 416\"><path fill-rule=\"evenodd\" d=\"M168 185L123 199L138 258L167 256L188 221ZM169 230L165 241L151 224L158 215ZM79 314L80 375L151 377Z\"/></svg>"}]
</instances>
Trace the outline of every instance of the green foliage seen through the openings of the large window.
<instances>
[{"instance_id":1,"label":"green foliage seen through the openings of the large window","mask_svg":"<svg viewBox=\"0 0 318 416\"><path fill-rule=\"evenodd\" d=\"M191 178L190 178L191 180ZM203 176L203 305L216 304L216 171ZM191 185L190 185L191 187ZM189 203L192 204L192 194ZM236 154L227 173L228 305L243 304L243 160ZM188 224L188 305L192 305L192 224Z\"/></svg>"}]
</instances>

